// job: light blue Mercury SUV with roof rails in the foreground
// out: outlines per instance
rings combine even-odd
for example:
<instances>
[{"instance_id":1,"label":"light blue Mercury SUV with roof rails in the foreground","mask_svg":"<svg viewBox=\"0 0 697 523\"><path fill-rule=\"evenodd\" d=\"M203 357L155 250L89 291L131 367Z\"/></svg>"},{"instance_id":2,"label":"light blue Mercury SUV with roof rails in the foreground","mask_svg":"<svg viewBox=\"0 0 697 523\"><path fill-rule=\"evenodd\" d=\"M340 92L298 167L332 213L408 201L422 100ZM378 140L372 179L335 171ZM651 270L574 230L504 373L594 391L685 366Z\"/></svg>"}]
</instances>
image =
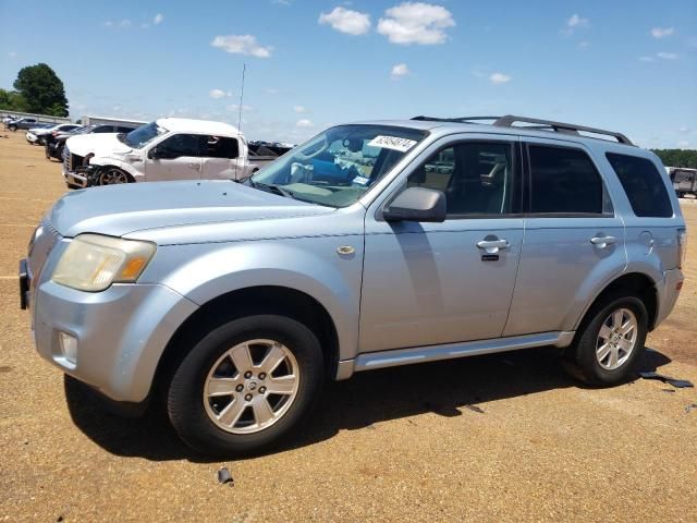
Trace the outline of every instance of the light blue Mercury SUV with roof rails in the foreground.
<instances>
[{"instance_id":1,"label":"light blue Mercury SUV with roof rails in the foreground","mask_svg":"<svg viewBox=\"0 0 697 523\"><path fill-rule=\"evenodd\" d=\"M686 231L622 134L503 117L331 127L244 183L77 191L21 262L40 355L205 452L285 437L322 382L553 345L633 376Z\"/></svg>"}]
</instances>

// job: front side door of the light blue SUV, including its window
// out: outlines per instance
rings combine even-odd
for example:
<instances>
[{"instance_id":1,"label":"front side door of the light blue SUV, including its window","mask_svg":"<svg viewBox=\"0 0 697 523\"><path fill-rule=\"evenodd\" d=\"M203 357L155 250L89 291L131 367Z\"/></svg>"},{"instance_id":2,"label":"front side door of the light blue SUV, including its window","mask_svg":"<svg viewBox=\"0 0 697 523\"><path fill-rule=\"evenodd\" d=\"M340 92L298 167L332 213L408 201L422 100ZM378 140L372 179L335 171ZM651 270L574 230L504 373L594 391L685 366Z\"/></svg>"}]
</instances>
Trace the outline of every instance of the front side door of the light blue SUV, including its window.
<instances>
[{"instance_id":1,"label":"front side door of the light blue SUV, including its window","mask_svg":"<svg viewBox=\"0 0 697 523\"><path fill-rule=\"evenodd\" d=\"M442 223L368 211L360 352L502 335L523 244L518 150L517 138L469 135L417 166L406 185L445 194Z\"/></svg>"}]
</instances>

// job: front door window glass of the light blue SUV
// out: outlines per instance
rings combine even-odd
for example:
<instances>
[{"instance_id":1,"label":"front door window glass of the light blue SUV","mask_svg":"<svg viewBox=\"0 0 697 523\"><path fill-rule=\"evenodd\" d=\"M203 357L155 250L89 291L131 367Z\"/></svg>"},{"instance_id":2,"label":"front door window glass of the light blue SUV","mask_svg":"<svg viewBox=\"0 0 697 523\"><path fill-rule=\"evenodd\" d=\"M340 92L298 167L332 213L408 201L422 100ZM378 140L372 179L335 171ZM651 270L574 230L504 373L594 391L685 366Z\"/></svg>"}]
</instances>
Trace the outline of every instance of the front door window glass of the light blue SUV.
<instances>
[{"instance_id":1,"label":"front door window glass of the light blue SUV","mask_svg":"<svg viewBox=\"0 0 697 523\"><path fill-rule=\"evenodd\" d=\"M442 191L448 216L515 212L511 150L493 142L445 147L409 175L407 186Z\"/></svg>"}]
</instances>

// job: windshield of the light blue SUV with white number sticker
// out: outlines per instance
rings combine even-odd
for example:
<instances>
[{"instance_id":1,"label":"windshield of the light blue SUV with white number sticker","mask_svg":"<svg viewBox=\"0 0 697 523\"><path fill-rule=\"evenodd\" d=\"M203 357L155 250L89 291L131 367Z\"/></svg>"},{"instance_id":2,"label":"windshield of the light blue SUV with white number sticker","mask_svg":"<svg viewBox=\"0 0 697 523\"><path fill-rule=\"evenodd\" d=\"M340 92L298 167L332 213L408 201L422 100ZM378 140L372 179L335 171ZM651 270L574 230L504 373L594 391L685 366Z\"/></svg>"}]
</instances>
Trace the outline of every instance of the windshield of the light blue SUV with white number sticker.
<instances>
[{"instance_id":1,"label":"windshield of the light blue SUV with white number sticker","mask_svg":"<svg viewBox=\"0 0 697 523\"><path fill-rule=\"evenodd\" d=\"M339 125L296 147L247 182L331 207L355 203L426 133L388 125Z\"/></svg>"}]
</instances>

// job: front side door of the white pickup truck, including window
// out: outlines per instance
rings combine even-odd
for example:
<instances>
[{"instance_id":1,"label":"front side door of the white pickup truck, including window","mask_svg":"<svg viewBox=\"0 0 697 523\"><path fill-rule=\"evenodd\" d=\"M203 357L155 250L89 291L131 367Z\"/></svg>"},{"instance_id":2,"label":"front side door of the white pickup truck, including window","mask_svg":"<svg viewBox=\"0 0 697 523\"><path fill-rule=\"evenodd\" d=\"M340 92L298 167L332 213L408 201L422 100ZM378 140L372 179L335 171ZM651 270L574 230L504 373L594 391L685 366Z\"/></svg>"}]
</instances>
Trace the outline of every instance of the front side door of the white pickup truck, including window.
<instances>
[{"instance_id":1,"label":"front side door of the white pickup truck, including window","mask_svg":"<svg viewBox=\"0 0 697 523\"><path fill-rule=\"evenodd\" d=\"M166 180L199 180L201 158L199 136L180 133L164 138L148 151L145 179L148 182Z\"/></svg>"}]
</instances>

